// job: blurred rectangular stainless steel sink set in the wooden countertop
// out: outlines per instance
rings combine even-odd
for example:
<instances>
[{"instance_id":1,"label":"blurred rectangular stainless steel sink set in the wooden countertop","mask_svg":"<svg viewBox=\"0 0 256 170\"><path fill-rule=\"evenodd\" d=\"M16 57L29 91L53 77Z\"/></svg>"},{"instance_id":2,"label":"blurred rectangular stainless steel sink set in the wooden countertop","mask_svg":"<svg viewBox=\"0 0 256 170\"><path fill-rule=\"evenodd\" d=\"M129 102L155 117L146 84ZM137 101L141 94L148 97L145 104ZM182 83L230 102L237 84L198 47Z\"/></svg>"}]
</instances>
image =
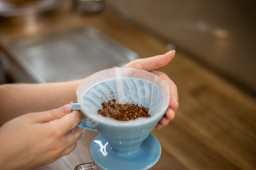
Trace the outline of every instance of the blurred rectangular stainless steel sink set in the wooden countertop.
<instances>
[{"instance_id":1,"label":"blurred rectangular stainless steel sink set in the wooden countertop","mask_svg":"<svg viewBox=\"0 0 256 170\"><path fill-rule=\"evenodd\" d=\"M138 58L93 28L23 39L10 46L10 53L31 77L23 82L77 80Z\"/></svg>"}]
</instances>

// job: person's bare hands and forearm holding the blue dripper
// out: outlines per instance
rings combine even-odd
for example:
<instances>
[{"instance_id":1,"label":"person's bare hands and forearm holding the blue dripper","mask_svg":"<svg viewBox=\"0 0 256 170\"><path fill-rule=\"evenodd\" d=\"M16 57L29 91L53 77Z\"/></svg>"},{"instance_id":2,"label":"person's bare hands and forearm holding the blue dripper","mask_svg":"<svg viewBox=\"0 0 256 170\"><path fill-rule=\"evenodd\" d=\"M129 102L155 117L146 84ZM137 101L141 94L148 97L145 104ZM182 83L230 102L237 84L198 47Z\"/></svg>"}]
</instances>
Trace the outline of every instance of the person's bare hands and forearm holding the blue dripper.
<instances>
[{"instance_id":1,"label":"person's bare hands and forearm holding the blue dripper","mask_svg":"<svg viewBox=\"0 0 256 170\"><path fill-rule=\"evenodd\" d=\"M170 51L125 66L152 72L169 82L170 105L157 128L173 120L178 109L178 93L173 81L154 69L170 63L174 55L175 52ZM77 101L75 91L82 81L0 86L2 169L34 169L75 150L81 136L76 123L81 117L78 111L71 111L69 101Z\"/></svg>"}]
</instances>

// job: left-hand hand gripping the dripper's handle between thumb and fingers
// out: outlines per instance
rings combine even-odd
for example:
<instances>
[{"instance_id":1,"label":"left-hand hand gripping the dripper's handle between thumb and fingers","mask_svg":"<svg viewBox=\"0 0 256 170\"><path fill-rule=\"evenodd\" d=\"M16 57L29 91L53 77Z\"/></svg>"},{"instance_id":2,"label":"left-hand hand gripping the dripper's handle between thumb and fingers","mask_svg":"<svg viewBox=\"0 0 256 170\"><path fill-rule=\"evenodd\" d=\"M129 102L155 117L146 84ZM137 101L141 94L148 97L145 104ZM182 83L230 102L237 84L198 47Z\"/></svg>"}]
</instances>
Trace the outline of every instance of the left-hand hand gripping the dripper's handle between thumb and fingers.
<instances>
[{"instance_id":1,"label":"left-hand hand gripping the dripper's handle between thumb and fingers","mask_svg":"<svg viewBox=\"0 0 256 170\"><path fill-rule=\"evenodd\" d=\"M1 169L34 169L69 154L82 134L76 126L80 119L67 104L5 123L0 128Z\"/></svg>"}]
</instances>

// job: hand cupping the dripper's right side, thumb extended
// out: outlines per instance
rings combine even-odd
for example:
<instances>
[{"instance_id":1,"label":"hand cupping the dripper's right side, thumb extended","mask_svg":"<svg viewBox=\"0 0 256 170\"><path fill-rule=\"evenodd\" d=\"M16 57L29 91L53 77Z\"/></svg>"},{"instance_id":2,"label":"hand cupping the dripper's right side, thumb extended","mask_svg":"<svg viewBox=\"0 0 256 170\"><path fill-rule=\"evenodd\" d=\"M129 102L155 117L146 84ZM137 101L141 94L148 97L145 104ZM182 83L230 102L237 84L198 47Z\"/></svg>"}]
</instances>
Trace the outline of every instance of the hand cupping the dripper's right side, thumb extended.
<instances>
[{"instance_id":1,"label":"hand cupping the dripper's right side, thumb extended","mask_svg":"<svg viewBox=\"0 0 256 170\"><path fill-rule=\"evenodd\" d=\"M150 58L140 58L138 60L131 61L124 66L136 69L143 69L145 71L151 72L162 78L162 80L167 80L167 82L169 83L170 104L165 112L165 116L162 117L159 123L157 123L157 128L162 128L162 125L167 125L170 120L173 120L175 116L175 111L176 109L178 109L178 91L174 82L170 80L170 78L165 73L154 71L154 69L166 66L167 63L170 63L170 61L173 60L174 55L175 51L172 50L168 53L165 53L164 55L157 55Z\"/></svg>"}]
</instances>

